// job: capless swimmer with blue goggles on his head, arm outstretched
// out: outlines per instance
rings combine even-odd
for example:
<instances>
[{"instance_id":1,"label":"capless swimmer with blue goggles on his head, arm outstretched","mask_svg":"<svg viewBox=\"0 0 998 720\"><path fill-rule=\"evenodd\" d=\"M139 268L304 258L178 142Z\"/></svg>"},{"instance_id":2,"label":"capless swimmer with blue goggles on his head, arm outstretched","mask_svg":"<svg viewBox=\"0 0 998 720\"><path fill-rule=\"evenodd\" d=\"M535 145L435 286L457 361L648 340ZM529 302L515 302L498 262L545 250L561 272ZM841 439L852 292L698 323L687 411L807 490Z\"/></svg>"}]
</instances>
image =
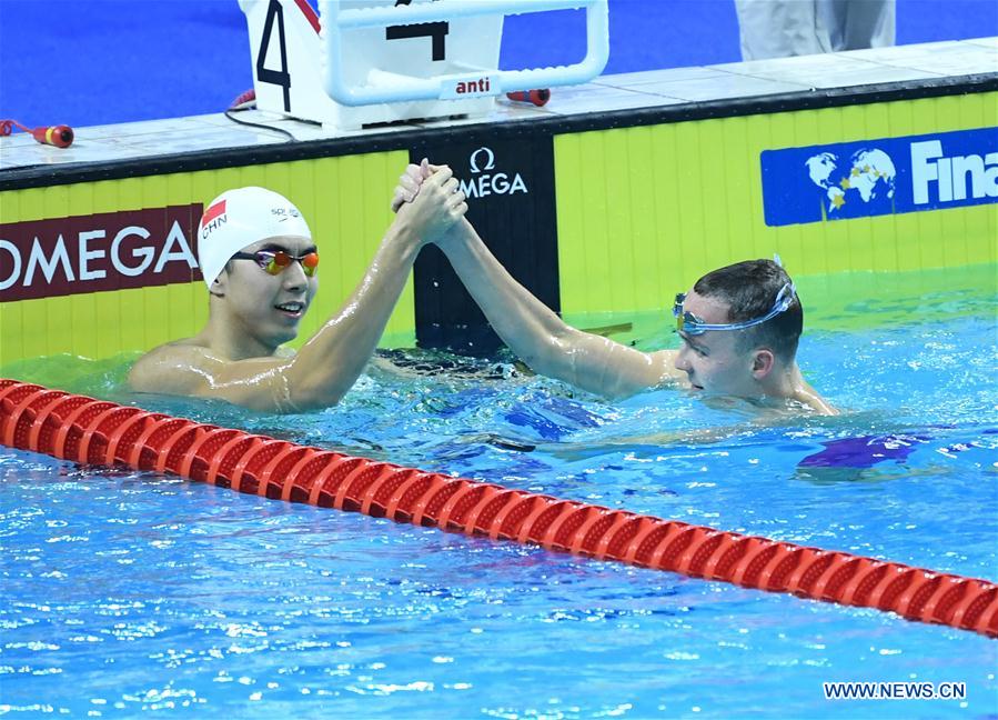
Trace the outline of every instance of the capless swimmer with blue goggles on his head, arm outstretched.
<instances>
[{"instance_id":1,"label":"capless swimmer with blue goggles on his head, arm outstretched","mask_svg":"<svg viewBox=\"0 0 998 720\"><path fill-rule=\"evenodd\" d=\"M425 160L409 166L392 208L417 199L435 170ZM682 347L644 353L564 323L506 272L466 220L436 242L498 336L540 373L612 398L678 380L712 396L835 413L797 366L804 310L777 261L745 260L702 276L673 306Z\"/></svg>"}]
</instances>

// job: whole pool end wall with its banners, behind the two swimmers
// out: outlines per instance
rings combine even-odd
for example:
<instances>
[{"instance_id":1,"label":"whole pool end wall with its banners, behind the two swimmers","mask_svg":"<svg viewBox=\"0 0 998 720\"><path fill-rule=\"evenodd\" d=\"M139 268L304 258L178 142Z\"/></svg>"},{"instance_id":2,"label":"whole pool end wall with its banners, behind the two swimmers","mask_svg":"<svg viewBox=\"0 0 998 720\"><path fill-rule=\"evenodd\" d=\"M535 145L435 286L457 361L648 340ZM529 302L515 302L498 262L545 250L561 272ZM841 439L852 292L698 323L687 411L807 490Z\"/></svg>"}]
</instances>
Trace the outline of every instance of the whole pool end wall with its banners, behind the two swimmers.
<instances>
[{"instance_id":1,"label":"whole pool end wall with its banners, behind the two swimmers","mask_svg":"<svg viewBox=\"0 0 998 720\"><path fill-rule=\"evenodd\" d=\"M919 201L908 149L933 142L942 151L919 161L929 193ZM828 154L816 180L808 163ZM996 74L374 129L0 176L0 366L105 358L196 332L208 311L192 267L198 218L215 194L245 184L286 194L319 239L322 289L302 326L308 338L361 278L400 171L424 156L454 168L500 260L572 322L661 309L714 267L774 253L795 277L957 268L998 254ZM850 176L870 181L871 194L860 197L859 180L850 188ZM845 210L833 207L836 194ZM846 219L831 219L839 211ZM434 248L384 339L414 342L471 352L496 343Z\"/></svg>"}]
</instances>

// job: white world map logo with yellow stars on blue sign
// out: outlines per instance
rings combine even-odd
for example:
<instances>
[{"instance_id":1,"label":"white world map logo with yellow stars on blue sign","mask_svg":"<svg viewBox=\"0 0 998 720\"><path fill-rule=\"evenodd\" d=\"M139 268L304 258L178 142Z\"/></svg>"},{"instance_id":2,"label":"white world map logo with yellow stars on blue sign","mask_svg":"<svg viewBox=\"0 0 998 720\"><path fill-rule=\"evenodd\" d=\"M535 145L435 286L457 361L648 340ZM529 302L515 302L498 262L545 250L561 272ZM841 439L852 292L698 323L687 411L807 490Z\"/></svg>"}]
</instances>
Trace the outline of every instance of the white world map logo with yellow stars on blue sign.
<instances>
[{"instance_id":1,"label":"white world map logo with yellow stars on blue sign","mask_svg":"<svg viewBox=\"0 0 998 720\"><path fill-rule=\"evenodd\" d=\"M890 156L883 150L857 150L847 167L831 152L813 156L804 164L810 181L824 191L828 201L824 213L829 219L873 214L871 204L880 206L894 199L897 171Z\"/></svg>"}]
</instances>

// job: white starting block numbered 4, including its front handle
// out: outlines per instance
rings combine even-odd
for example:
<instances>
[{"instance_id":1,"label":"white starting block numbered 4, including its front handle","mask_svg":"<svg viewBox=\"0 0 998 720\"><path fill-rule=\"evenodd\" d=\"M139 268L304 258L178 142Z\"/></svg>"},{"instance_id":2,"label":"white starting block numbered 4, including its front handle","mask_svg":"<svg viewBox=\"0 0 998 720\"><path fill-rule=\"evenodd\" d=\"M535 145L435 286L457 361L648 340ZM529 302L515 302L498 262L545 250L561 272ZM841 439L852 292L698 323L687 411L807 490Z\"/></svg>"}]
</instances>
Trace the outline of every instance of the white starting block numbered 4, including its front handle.
<instances>
[{"instance_id":1,"label":"white starting block numbered 4, including its front handle","mask_svg":"<svg viewBox=\"0 0 998 720\"><path fill-rule=\"evenodd\" d=\"M487 114L496 96L578 84L609 56L607 0L239 0L259 110L341 129ZM582 62L500 70L506 14L586 10Z\"/></svg>"}]
</instances>

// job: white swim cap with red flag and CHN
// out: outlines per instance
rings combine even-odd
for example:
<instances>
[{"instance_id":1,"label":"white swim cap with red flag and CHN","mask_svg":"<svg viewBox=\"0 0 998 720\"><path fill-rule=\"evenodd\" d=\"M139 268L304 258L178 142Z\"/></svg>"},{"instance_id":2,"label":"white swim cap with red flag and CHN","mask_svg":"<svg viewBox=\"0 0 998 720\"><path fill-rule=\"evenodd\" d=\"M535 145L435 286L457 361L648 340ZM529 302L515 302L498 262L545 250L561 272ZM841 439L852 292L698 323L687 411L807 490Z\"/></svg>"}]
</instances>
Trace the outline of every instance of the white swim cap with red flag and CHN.
<instances>
[{"instance_id":1,"label":"white swim cap with red flag and CHN","mask_svg":"<svg viewBox=\"0 0 998 720\"><path fill-rule=\"evenodd\" d=\"M226 190L212 200L198 226L198 261L211 289L236 252L266 238L312 237L309 224L288 198L265 188Z\"/></svg>"}]
</instances>

